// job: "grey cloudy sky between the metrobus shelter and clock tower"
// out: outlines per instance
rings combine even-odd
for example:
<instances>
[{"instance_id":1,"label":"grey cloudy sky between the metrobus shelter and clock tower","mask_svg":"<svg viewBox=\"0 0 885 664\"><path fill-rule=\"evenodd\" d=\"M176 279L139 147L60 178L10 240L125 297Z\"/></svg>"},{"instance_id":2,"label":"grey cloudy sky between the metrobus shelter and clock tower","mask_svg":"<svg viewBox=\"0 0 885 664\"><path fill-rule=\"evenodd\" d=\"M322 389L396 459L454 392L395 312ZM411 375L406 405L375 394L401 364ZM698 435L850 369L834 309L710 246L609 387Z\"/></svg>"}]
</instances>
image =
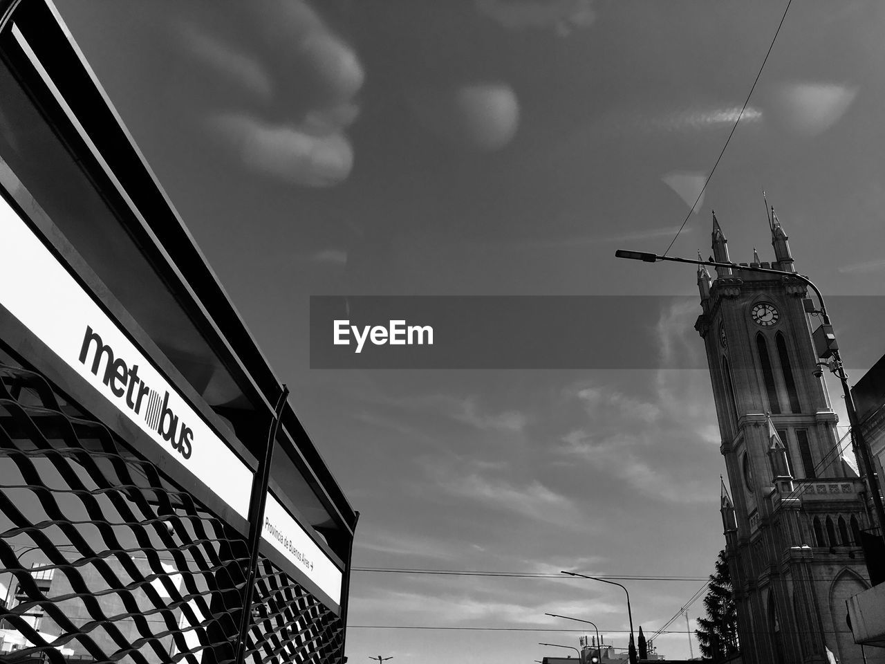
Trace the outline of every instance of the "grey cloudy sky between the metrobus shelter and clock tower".
<instances>
[{"instance_id":1,"label":"grey cloudy sky between the metrobus shelter and clock tower","mask_svg":"<svg viewBox=\"0 0 885 664\"><path fill-rule=\"evenodd\" d=\"M689 266L614 250L706 256L715 209L732 259L770 260L763 190L827 295L885 290L875 0L792 4L690 214L785 2L57 6L360 512L356 567L688 577L623 582L654 633L724 544L709 375L676 359L703 357L700 309L649 308L653 367L319 370L309 296L692 295ZM885 349L839 312L859 376ZM567 655L537 643L580 626L545 613L626 645L603 583L360 570L347 655ZM689 655L685 624L658 652Z\"/></svg>"}]
</instances>

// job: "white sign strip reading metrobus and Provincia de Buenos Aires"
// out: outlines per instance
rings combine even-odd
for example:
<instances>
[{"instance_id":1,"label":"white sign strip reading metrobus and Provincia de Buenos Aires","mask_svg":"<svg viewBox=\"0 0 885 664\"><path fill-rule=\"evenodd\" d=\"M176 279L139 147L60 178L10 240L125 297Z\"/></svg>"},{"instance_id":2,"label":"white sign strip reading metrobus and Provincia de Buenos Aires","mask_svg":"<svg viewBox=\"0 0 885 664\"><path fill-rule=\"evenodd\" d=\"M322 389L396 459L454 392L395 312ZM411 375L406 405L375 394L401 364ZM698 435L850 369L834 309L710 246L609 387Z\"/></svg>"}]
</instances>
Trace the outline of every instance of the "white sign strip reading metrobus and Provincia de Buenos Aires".
<instances>
[{"instance_id":1,"label":"white sign strip reading metrobus and Provincia de Buenos Aires","mask_svg":"<svg viewBox=\"0 0 885 664\"><path fill-rule=\"evenodd\" d=\"M0 304L243 518L252 472L0 197ZM262 537L336 604L342 572L268 493Z\"/></svg>"}]
</instances>

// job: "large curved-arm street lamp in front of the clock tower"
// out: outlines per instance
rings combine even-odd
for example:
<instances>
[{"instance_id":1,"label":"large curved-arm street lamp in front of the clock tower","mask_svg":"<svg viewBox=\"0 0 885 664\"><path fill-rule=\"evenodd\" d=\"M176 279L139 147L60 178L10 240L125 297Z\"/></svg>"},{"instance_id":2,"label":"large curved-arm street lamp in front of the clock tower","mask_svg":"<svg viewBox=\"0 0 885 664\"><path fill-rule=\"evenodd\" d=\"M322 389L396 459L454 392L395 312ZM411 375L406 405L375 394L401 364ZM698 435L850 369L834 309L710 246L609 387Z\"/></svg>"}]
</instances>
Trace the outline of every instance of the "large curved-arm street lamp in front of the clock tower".
<instances>
[{"instance_id":1,"label":"large curved-arm street lamp in front of the clock tower","mask_svg":"<svg viewBox=\"0 0 885 664\"><path fill-rule=\"evenodd\" d=\"M829 329L832 329L833 327L833 324L830 321L830 317L829 315L827 315L827 306L824 304L824 297L820 294L820 290L817 286L814 285L812 280L806 277L804 274L787 272L786 270L773 270L770 267L743 266L737 265L736 263L718 263L714 260L691 260L680 259L673 256L659 256L658 254L650 253L649 251L625 251L623 249L619 249L618 251L614 252L614 255L615 258L618 259L642 260L645 263L657 263L660 260L669 260L673 263L689 263L689 265L725 267L727 269L733 270L745 270L746 272L779 274L781 276L798 279L800 282L803 282L806 286L812 289L814 291L814 294L818 297L818 302L820 303L820 317L823 320L824 326ZM854 397L851 395L851 387L848 384L848 374L845 373L845 369L842 363L842 356L839 354L838 345L835 343L827 345L828 352L830 352L833 357L832 363L828 366L830 367L830 371L833 372L839 379L839 382L842 383L842 391L845 395L845 410L848 411L848 423L850 424L851 431L854 433L854 444L858 452L860 452L860 462L864 467L866 482L869 485L870 493L873 495L873 507L875 508L876 512L876 520L879 521L879 535L883 538L883 540L885 540L885 507L882 506L882 499L879 494L879 483L876 480L875 471L873 470L873 459L869 447L866 444L864 435L860 431L858 411L854 406Z\"/></svg>"}]
</instances>

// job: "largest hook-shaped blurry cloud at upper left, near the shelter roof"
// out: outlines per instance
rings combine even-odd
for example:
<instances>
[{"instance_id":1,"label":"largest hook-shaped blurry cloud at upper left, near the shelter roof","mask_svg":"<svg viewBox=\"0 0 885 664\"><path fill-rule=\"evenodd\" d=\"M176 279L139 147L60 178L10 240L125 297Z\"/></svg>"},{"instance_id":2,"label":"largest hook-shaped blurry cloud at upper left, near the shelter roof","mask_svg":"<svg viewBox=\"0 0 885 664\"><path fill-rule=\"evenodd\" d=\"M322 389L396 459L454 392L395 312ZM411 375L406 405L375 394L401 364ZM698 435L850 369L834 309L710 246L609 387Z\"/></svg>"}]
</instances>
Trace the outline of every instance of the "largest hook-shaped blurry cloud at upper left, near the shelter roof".
<instances>
[{"instance_id":1,"label":"largest hook-shaped blurry cloud at upper left, near the shelter roof","mask_svg":"<svg viewBox=\"0 0 885 664\"><path fill-rule=\"evenodd\" d=\"M345 179L346 129L365 79L356 51L304 0L249 11L226 4L212 19L203 12L171 12L184 51L167 80L175 108L196 115L213 143L256 174L304 187Z\"/></svg>"}]
</instances>

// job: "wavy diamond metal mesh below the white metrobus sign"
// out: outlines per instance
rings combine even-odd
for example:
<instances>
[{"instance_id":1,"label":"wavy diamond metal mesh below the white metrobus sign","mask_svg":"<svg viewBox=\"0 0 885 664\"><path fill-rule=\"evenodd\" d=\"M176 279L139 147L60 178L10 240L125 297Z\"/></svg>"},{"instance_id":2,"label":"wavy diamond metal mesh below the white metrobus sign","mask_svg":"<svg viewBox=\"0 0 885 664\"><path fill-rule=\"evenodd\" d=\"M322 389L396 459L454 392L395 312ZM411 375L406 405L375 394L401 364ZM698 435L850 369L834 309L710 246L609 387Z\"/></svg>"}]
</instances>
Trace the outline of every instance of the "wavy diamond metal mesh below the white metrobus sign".
<instances>
[{"instance_id":1,"label":"wavy diamond metal mesh below the white metrobus sign","mask_svg":"<svg viewBox=\"0 0 885 664\"><path fill-rule=\"evenodd\" d=\"M0 364L0 626L17 656L233 661L248 560L239 534L41 375ZM342 659L341 620L265 558L256 587L245 661Z\"/></svg>"}]
</instances>

